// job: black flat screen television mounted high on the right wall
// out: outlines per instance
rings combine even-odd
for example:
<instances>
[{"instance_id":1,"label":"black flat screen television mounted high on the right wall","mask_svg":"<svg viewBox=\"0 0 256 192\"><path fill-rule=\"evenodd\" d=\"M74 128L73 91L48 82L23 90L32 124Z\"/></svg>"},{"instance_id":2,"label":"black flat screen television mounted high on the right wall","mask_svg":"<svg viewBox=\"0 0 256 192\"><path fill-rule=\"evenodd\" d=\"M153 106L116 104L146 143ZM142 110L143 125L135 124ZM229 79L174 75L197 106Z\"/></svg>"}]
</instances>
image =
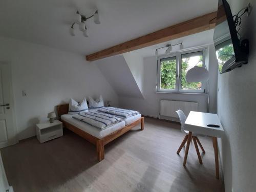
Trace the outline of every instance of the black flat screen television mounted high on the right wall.
<instances>
[{"instance_id":1,"label":"black flat screen television mounted high on the right wall","mask_svg":"<svg viewBox=\"0 0 256 192\"><path fill-rule=\"evenodd\" d=\"M247 63L248 41L238 38L233 15L226 0L219 0L214 44L220 73Z\"/></svg>"}]
</instances>

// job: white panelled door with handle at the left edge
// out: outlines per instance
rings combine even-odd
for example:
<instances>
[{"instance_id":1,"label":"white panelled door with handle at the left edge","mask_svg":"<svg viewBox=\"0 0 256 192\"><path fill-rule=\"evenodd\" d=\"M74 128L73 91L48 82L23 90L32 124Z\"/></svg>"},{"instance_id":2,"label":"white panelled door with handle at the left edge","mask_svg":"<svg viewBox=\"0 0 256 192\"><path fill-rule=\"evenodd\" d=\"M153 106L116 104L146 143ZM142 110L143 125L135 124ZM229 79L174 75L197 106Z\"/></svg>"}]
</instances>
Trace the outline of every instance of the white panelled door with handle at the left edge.
<instances>
[{"instance_id":1,"label":"white panelled door with handle at the left edge","mask_svg":"<svg viewBox=\"0 0 256 192\"><path fill-rule=\"evenodd\" d=\"M0 62L0 148L16 143L11 66Z\"/></svg>"}]
</instances>

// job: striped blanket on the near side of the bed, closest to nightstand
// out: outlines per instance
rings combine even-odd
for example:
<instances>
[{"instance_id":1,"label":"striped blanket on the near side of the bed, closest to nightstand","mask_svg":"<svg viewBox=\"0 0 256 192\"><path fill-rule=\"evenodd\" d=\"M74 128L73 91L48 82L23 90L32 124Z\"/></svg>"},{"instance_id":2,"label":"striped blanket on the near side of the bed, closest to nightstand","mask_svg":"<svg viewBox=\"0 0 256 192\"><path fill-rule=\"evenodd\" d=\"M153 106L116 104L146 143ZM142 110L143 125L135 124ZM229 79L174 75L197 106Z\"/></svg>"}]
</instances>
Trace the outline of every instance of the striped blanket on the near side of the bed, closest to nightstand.
<instances>
[{"instance_id":1,"label":"striped blanket on the near side of the bed, closest to nightstand","mask_svg":"<svg viewBox=\"0 0 256 192\"><path fill-rule=\"evenodd\" d=\"M72 116L74 119L105 130L122 119L102 112L84 112Z\"/></svg>"}]
</instances>

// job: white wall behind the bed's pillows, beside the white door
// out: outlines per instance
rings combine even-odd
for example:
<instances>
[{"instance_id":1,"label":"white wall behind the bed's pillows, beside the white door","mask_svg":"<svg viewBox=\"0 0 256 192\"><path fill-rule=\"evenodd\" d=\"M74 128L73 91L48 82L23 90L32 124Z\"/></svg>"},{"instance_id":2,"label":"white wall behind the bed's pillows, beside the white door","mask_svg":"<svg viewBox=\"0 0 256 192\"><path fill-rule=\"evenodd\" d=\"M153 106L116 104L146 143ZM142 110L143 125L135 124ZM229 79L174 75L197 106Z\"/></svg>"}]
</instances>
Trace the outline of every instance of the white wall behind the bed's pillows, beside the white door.
<instances>
[{"instance_id":1,"label":"white wall behind the bed's pillows, beside the white door","mask_svg":"<svg viewBox=\"0 0 256 192\"><path fill-rule=\"evenodd\" d=\"M12 66L18 139L34 136L35 124L46 121L47 114L69 98L102 94L118 105L108 81L83 55L0 37L0 60Z\"/></svg>"}]
</instances>

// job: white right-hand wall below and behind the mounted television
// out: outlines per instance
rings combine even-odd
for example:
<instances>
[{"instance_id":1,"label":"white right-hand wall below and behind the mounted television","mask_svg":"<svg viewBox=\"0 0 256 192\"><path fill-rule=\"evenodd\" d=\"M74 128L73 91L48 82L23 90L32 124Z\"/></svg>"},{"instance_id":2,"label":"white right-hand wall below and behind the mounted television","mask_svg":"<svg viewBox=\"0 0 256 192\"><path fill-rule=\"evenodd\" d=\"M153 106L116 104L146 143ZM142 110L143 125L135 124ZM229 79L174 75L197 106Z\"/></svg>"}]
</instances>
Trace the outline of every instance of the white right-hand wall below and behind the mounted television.
<instances>
[{"instance_id":1,"label":"white right-hand wall below and behind the mounted television","mask_svg":"<svg viewBox=\"0 0 256 192\"><path fill-rule=\"evenodd\" d=\"M254 6L249 17L242 17L241 25L242 38L250 41L248 64L218 77L218 115L225 130L219 140L225 191L249 192L256 188L256 4L228 2L233 14L249 2Z\"/></svg>"}]
</instances>

